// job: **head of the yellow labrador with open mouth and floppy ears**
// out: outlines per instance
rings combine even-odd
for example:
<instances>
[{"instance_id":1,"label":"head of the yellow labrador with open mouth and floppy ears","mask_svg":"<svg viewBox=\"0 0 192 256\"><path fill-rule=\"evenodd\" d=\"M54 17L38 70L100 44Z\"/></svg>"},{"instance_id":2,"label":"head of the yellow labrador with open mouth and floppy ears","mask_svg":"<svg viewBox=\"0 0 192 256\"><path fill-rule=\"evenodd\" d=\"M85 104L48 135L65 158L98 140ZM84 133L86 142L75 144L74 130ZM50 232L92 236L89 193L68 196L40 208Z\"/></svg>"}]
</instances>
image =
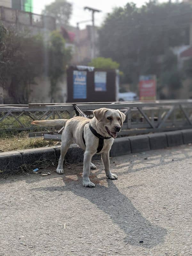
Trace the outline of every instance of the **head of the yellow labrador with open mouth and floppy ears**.
<instances>
[{"instance_id":1,"label":"head of the yellow labrador with open mouth and floppy ears","mask_svg":"<svg viewBox=\"0 0 192 256\"><path fill-rule=\"evenodd\" d=\"M125 121L125 115L119 110L109 108L99 108L93 111L97 119L97 125L103 133L108 133L112 138L117 137L117 132L121 131L121 126Z\"/></svg>"}]
</instances>

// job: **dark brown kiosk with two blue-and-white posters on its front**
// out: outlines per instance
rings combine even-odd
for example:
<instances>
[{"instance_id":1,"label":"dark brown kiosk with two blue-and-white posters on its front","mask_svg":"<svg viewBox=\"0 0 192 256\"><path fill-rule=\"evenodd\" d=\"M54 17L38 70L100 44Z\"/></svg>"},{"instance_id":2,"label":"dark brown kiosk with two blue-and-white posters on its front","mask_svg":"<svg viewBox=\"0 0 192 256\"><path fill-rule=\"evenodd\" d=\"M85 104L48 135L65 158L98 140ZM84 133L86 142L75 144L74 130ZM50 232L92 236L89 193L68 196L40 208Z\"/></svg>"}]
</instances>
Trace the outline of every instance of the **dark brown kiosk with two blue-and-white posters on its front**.
<instances>
[{"instance_id":1,"label":"dark brown kiosk with two blue-and-white posters on its front","mask_svg":"<svg viewBox=\"0 0 192 256\"><path fill-rule=\"evenodd\" d=\"M67 69L67 102L115 102L118 81L116 69L70 66Z\"/></svg>"}]
</instances>

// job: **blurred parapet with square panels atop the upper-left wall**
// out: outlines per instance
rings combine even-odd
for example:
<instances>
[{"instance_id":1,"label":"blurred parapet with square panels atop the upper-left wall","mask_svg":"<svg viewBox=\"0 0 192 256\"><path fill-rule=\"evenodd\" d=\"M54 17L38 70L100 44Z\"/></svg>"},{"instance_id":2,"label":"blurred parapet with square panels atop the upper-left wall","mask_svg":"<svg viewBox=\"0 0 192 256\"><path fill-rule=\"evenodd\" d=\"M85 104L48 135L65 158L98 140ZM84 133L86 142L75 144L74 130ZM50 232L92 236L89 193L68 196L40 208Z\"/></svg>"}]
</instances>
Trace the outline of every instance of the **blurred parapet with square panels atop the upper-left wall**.
<instances>
[{"instance_id":1,"label":"blurred parapet with square panels atop the upper-left wall","mask_svg":"<svg viewBox=\"0 0 192 256\"><path fill-rule=\"evenodd\" d=\"M49 30L56 29L56 21L52 16L24 12L4 6L0 6L0 20L37 28L47 28Z\"/></svg>"}]
</instances>

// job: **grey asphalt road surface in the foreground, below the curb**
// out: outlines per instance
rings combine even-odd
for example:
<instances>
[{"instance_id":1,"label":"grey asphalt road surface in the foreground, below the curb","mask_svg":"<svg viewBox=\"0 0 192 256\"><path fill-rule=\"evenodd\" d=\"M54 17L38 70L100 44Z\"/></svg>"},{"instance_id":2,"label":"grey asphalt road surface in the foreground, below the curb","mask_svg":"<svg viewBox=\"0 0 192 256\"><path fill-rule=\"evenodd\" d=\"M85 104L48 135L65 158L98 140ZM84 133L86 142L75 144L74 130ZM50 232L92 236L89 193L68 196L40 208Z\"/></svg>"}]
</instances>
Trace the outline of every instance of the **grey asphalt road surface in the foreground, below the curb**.
<instances>
[{"instance_id":1,"label":"grey asphalt road surface in the foreground, below the curb","mask_svg":"<svg viewBox=\"0 0 192 256\"><path fill-rule=\"evenodd\" d=\"M2 179L0 256L192 255L192 146L110 162L119 179L93 161L95 188L82 186L82 164Z\"/></svg>"}]
</instances>

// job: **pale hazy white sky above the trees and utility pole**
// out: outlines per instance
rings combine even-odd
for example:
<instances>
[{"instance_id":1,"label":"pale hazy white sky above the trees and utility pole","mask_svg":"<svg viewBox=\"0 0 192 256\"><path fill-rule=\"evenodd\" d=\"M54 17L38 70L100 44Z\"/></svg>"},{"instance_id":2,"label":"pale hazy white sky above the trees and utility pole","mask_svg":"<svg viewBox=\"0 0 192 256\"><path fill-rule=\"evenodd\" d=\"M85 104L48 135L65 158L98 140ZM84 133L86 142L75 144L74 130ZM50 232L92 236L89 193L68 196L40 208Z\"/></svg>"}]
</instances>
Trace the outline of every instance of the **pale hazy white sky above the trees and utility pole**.
<instances>
[{"instance_id":1,"label":"pale hazy white sky above the trees and utility pole","mask_svg":"<svg viewBox=\"0 0 192 256\"><path fill-rule=\"evenodd\" d=\"M167 0L168 1L168 0ZM54 2L54 0L33 0L33 12L34 13L41 13L44 9L46 4L50 4ZM71 25L76 26L76 23L83 20L91 20L91 12L88 10L84 11L84 6L89 6L92 8L96 8L101 10L102 12L95 13L95 25L99 26L105 15L108 12L111 12L113 7L116 6L124 6L127 0L68 0L73 4L73 13L70 20ZM136 3L138 6L144 4L146 0L137 0L137 1L130 1ZM160 1L161 2L161 1ZM91 22L85 23L81 25L80 28L83 28L85 25L90 24Z\"/></svg>"}]
</instances>

